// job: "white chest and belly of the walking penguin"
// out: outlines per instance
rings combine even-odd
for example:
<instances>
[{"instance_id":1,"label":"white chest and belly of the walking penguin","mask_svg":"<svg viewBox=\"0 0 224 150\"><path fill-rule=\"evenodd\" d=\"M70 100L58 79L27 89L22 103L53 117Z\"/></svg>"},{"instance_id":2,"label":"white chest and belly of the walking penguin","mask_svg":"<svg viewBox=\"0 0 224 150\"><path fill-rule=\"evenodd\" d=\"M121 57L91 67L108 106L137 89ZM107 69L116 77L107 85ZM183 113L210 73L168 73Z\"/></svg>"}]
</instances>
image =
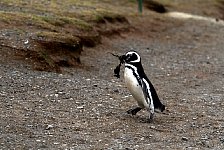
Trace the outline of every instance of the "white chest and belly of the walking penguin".
<instances>
[{"instance_id":1,"label":"white chest and belly of the walking penguin","mask_svg":"<svg viewBox=\"0 0 224 150\"><path fill-rule=\"evenodd\" d=\"M145 96L143 94L141 85L139 85L137 78L135 77L131 68L125 67L124 80L128 90L131 92L138 105L142 108L148 107Z\"/></svg>"}]
</instances>

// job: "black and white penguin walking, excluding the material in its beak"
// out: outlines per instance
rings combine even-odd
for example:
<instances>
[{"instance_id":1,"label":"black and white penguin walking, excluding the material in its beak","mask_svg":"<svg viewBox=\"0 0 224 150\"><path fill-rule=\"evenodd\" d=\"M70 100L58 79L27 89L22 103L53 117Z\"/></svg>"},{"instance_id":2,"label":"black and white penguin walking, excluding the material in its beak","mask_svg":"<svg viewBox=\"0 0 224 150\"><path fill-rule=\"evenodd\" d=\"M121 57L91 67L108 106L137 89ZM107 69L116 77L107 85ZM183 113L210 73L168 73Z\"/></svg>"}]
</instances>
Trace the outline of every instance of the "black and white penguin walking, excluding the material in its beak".
<instances>
[{"instance_id":1,"label":"black and white penguin walking, excluding the material in its beak","mask_svg":"<svg viewBox=\"0 0 224 150\"><path fill-rule=\"evenodd\" d=\"M135 51L127 52L120 56L120 60L125 63L124 80L128 90L138 103L138 107L127 112L135 115L141 109L146 108L150 112L150 121L153 119L154 110L165 110L156 93L152 83L147 78L141 64L141 57Z\"/></svg>"}]
</instances>

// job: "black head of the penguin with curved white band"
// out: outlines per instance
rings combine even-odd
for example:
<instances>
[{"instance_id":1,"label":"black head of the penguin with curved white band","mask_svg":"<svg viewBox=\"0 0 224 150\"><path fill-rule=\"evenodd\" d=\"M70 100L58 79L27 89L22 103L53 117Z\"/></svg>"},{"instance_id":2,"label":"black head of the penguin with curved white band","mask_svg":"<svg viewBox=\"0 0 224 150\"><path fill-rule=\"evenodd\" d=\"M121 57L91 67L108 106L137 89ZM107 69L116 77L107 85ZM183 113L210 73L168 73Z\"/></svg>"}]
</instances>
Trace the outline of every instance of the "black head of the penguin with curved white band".
<instances>
[{"instance_id":1,"label":"black head of the penguin with curved white band","mask_svg":"<svg viewBox=\"0 0 224 150\"><path fill-rule=\"evenodd\" d=\"M141 63L141 57L135 51L129 51L125 55L122 55L121 60L123 60L123 62L129 63L129 64Z\"/></svg>"}]
</instances>

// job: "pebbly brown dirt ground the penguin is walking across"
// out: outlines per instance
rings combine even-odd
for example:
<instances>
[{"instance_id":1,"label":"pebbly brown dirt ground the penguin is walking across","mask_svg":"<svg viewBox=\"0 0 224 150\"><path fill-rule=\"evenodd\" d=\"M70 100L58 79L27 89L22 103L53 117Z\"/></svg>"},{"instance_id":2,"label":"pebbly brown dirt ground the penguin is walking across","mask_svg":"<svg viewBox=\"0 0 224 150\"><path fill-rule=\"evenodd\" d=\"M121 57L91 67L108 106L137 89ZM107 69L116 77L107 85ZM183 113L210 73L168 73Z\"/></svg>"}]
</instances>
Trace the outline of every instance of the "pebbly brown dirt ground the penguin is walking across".
<instances>
[{"instance_id":1,"label":"pebbly brown dirt ground the penguin is walking across","mask_svg":"<svg viewBox=\"0 0 224 150\"><path fill-rule=\"evenodd\" d=\"M206 10L192 12L218 14ZM224 26L149 10L128 21L128 32L84 47L81 65L62 73L35 71L1 47L0 149L224 149ZM109 52L129 50L167 108L153 123L145 110L126 113L136 102L113 76Z\"/></svg>"}]
</instances>

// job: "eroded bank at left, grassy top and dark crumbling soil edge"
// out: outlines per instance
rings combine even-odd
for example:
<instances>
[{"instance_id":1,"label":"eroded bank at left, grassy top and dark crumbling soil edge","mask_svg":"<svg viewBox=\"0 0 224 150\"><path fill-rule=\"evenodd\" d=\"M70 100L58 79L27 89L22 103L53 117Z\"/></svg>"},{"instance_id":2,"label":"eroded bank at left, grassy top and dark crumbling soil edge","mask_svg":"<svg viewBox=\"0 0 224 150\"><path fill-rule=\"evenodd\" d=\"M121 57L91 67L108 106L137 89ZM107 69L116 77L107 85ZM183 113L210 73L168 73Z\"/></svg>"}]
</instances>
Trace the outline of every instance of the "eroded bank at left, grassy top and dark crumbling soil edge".
<instances>
[{"instance_id":1,"label":"eroded bank at left, grassy top and dark crumbling soil edge","mask_svg":"<svg viewBox=\"0 0 224 150\"><path fill-rule=\"evenodd\" d=\"M41 60L34 69L57 72L60 65L78 64L82 47L100 43L101 34L128 29L124 16L137 11L130 0L2 0L0 6L1 33L8 35L0 46L20 50L30 62ZM58 60L55 53L69 56Z\"/></svg>"}]
</instances>

